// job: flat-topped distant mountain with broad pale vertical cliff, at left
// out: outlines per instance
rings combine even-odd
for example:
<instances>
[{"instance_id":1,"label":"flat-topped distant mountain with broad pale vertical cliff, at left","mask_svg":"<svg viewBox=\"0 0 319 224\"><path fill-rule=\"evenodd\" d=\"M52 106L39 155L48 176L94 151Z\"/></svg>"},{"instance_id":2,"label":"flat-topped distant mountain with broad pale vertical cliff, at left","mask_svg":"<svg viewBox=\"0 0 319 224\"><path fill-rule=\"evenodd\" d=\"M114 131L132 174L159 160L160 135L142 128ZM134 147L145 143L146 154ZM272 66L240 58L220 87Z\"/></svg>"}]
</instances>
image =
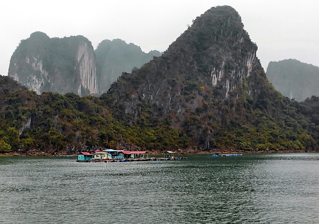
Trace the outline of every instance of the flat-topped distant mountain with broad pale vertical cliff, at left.
<instances>
[{"instance_id":1,"label":"flat-topped distant mountain with broad pale vertical cliff, at left","mask_svg":"<svg viewBox=\"0 0 319 224\"><path fill-rule=\"evenodd\" d=\"M8 76L38 94L98 93L94 50L83 36L49 38L32 33L14 51Z\"/></svg>"}]
</instances>

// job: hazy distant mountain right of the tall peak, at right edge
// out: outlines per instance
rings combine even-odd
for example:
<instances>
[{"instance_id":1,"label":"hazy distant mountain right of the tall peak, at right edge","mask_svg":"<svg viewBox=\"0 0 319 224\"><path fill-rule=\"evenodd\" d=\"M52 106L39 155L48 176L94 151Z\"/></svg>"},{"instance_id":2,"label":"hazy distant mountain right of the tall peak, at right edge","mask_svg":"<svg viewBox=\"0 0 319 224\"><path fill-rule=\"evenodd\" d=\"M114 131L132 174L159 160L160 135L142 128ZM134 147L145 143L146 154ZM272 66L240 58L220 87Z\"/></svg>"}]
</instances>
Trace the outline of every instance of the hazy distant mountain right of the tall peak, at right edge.
<instances>
[{"instance_id":1,"label":"hazy distant mountain right of the tall peak, at right edge","mask_svg":"<svg viewBox=\"0 0 319 224\"><path fill-rule=\"evenodd\" d=\"M319 96L319 67L296 59L271 61L267 67L267 77L284 96L304 101Z\"/></svg>"}]
</instances>

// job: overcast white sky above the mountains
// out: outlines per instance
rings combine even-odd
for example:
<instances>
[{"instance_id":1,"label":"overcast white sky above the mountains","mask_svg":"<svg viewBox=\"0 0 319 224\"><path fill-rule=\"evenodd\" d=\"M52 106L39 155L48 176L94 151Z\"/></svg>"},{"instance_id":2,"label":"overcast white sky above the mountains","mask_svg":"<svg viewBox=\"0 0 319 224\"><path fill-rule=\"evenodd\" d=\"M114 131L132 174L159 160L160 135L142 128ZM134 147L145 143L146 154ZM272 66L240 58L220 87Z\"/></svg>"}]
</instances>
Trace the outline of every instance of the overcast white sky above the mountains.
<instances>
[{"instance_id":1,"label":"overcast white sky above the mountains","mask_svg":"<svg viewBox=\"0 0 319 224\"><path fill-rule=\"evenodd\" d=\"M5 0L0 6L0 74L20 40L34 31L49 37L83 35L96 48L120 38L149 52L164 51L192 23L217 5L230 5L269 61L295 58L319 66L318 0Z\"/></svg>"}]
</instances>

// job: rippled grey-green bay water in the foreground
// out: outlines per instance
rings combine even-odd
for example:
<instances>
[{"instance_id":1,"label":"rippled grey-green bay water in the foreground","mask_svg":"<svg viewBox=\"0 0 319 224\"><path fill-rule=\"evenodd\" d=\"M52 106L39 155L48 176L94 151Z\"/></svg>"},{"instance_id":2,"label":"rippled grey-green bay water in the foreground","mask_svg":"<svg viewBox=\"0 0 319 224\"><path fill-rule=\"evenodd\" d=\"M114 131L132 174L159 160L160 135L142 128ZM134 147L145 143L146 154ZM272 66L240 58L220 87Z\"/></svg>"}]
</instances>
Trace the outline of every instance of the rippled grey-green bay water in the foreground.
<instances>
[{"instance_id":1,"label":"rippled grey-green bay water in the foreground","mask_svg":"<svg viewBox=\"0 0 319 224\"><path fill-rule=\"evenodd\" d=\"M0 157L0 223L319 223L319 154L187 158Z\"/></svg>"}]
</instances>

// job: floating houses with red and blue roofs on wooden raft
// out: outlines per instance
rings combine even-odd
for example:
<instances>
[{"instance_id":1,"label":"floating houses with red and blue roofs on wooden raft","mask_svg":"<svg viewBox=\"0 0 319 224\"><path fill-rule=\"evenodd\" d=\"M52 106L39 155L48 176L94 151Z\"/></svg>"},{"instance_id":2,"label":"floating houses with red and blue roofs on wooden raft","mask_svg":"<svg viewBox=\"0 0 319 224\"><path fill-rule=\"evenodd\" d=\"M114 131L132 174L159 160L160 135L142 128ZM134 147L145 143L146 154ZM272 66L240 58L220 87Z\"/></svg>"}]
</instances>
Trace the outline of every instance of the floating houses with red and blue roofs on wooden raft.
<instances>
[{"instance_id":1,"label":"floating houses with red and blue roofs on wooden raft","mask_svg":"<svg viewBox=\"0 0 319 224\"><path fill-rule=\"evenodd\" d=\"M93 154L81 152L76 162L136 162L136 161L160 161L160 160L183 160L187 157L174 157L174 152L165 151L163 157L150 157L147 151L128 151L128 150L96 150Z\"/></svg>"}]
</instances>

